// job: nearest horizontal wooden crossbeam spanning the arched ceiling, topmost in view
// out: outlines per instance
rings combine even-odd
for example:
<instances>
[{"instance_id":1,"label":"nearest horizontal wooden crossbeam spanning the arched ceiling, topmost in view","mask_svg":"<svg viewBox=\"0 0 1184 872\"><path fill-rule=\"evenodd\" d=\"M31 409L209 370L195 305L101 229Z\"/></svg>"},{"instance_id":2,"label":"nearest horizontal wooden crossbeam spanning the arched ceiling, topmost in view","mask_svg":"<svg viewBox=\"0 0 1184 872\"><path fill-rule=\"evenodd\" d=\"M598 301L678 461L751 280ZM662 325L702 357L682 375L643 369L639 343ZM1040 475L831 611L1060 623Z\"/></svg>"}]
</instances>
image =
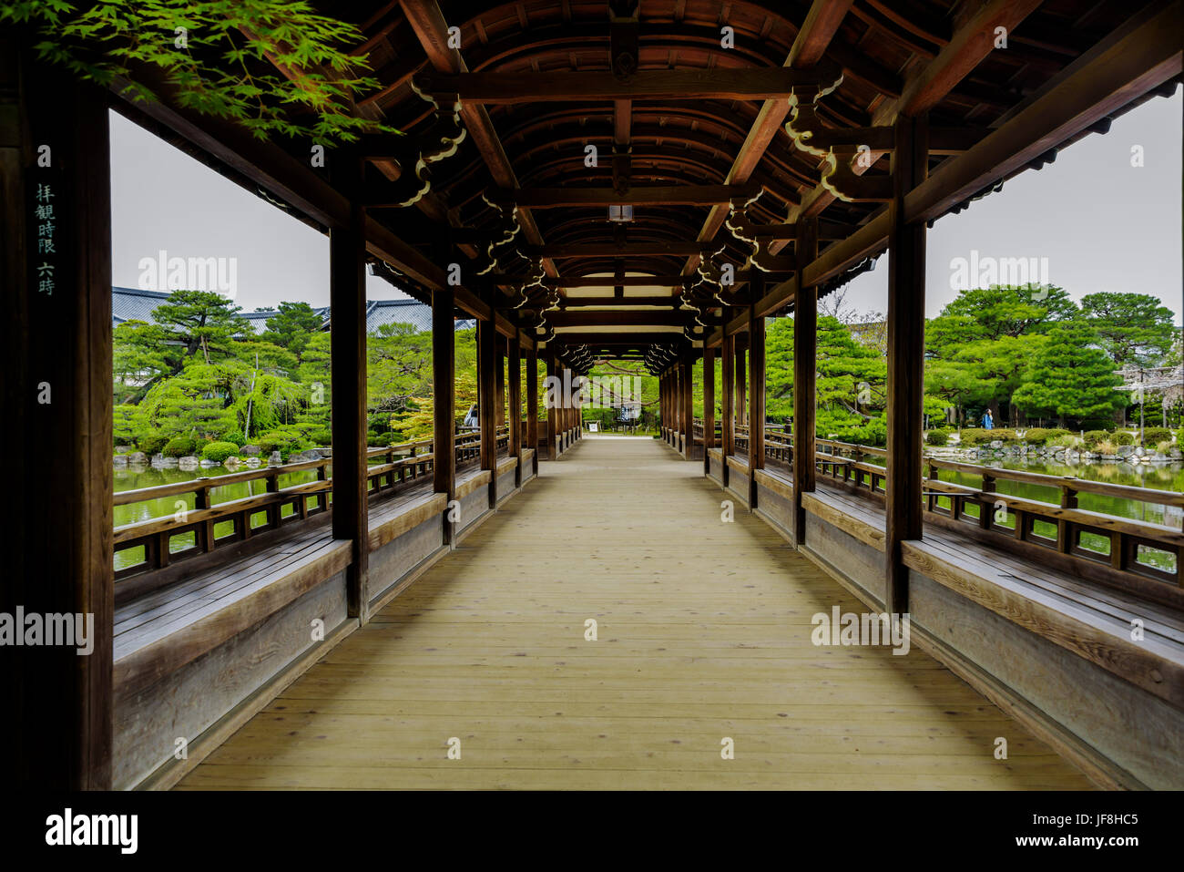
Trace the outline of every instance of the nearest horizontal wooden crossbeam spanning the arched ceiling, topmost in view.
<instances>
[{"instance_id":1,"label":"nearest horizontal wooden crossbeam spanning the arched ceiling, topmost in view","mask_svg":"<svg viewBox=\"0 0 1184 872\"><path fill-rule=\"evenodd\" d=\"M794 89L834 81L831 71L789 68L641 70L626 79L610 71L424 72L417 86L427 94L459 95L462 103L513 104L620 100L787 100Z\"/></svg>"}]
</instances>

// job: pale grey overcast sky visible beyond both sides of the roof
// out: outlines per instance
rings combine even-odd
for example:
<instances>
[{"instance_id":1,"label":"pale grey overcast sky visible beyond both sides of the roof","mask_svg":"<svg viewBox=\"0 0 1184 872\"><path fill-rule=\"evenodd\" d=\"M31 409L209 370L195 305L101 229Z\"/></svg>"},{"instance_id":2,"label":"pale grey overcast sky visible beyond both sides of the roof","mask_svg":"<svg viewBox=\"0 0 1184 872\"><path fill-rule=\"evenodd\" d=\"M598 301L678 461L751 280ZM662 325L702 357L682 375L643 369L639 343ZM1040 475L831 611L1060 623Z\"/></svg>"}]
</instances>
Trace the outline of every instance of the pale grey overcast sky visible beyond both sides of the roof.
<instances>
[{"instance_id":1,"label":"pale grey overcast sky visible beyond both sides of the roof","mask_svg":"<svg viewBox=\"0 0 1184 872\"><path fill-rule=\"evenodd\" d=\"M1184 309L1180 251L1180 89L1118 118L1055 164L1025 172L997 194L940 219L928 236L926 310L957 296L951 262L985 257L1048 258L1048 275L1080 300L1100 290L1154 294ZM1131 166L1141 146L1144 166ZM143 258L236 259L236 302L244 309L281 300L329 302L329 241L227 181L120 115L111 115L112 278L142 287ZM887 308L887 256L848 288L847 304ZM367 278L367 296L401 296Z\"/></svg>"}]
</instances>

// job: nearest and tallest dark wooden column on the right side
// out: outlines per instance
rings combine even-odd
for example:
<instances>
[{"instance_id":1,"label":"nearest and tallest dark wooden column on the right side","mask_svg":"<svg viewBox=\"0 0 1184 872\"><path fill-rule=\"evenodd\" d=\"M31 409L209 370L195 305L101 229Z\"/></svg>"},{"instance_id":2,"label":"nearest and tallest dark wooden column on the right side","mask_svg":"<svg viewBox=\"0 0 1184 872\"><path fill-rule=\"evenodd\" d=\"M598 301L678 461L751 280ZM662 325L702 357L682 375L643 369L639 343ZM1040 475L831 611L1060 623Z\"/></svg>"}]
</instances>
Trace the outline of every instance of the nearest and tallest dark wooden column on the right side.
<instances>
[{"instance_id":1,"label":"nearest and tallest dark wooden column on the right side","mask_svg":"<svg viewBox=\"0 0 1184 872\"><path fill-rule=\"evenodd\" d=\"M905 222L905 194L926 175L925 116L900 118L888 204L888 469L884 556L888 611L908 611L908 569L900 544L921 538L921 412L925 382L925 222Z\"/></svg>"}]
</instances>

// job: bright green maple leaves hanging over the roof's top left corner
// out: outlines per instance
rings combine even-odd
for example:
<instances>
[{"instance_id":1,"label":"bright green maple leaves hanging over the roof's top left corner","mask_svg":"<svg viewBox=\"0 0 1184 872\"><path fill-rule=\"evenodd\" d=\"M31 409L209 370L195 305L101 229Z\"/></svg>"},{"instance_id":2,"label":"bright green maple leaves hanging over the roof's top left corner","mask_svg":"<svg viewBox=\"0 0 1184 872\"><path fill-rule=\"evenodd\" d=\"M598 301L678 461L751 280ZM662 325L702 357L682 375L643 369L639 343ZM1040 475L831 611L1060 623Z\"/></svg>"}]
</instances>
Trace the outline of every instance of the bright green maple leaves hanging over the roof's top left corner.
<instances>
[{"instance_id":1,"label":"bright green maple leaves hanging over the roof's top left corner","mask_svg":"<svg viewBox=\"0 0 1184 872\"><path fill-rule=\"evenodd\" d=\"M81 8L15 0L0 5L5 24L32 31L39 57L79 78L103 88L127 79L134 100L153 101L137 81L147 71L168 83L182 108L231 120L260 140L353 142L361 133L398 133L352 110L379 86L355 72L369 69L367 56L349 52L361 32L304 0L107 0Z\"/></svg>"}]
</instances>

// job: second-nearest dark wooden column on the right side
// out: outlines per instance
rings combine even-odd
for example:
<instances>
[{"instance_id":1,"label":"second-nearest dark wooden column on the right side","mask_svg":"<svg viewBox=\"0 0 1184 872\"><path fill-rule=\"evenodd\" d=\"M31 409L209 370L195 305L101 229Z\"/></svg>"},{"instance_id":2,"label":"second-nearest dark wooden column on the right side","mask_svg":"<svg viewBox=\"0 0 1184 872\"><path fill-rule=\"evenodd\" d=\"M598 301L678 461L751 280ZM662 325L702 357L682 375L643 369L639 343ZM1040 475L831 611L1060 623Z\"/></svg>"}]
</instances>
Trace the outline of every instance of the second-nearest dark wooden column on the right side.
<instances>
[{"instance_id":1,"label":"second-nearest dark wooden column on the right side","mask_svg":"<svg viewBox=\"0 0 1184 872\"><path fill-rule=\"evenodd\" d=\"M818 256L818 219L799 218L797 237L798 280L793 297L793 544L806 534L802 494L815 489L818 288L802 287L805 265Z\"/></svg>"}]
</instances>

